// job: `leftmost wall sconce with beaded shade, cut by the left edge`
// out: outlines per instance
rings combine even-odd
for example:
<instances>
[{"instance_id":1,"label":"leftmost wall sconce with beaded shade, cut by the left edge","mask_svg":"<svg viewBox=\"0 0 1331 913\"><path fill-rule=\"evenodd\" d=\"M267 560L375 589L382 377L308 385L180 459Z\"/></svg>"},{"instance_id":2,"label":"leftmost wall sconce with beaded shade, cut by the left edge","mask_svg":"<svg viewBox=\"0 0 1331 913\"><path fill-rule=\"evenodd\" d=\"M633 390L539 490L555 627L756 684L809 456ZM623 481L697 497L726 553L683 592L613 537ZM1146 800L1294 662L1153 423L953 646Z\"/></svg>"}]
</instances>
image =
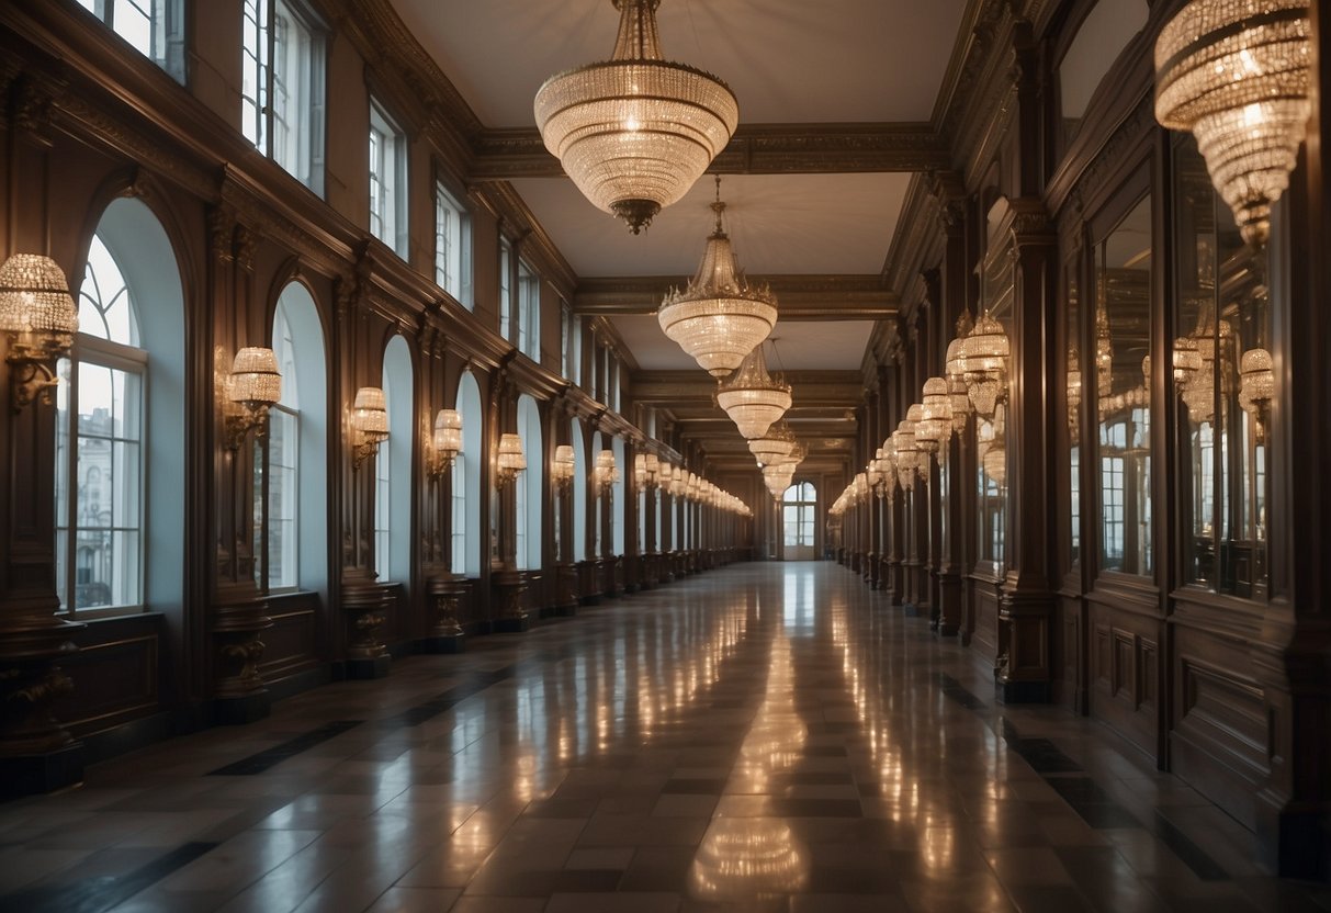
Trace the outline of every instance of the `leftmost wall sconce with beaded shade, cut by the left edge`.
<instances>
[{"instance_id":1,"label":"leftmost wall sconce with beaded shade, cut by the left edge","mask_svg":"<svg viewBox=\"0 0 1331 913\"><path fill-rule=\"evenodd\" d=\"M0 333L9 337L13 411L36 401L51 405L59 383L55 361L79 331L79 309L60 264L43 254L15 254L0 266Z\"/></svg>"}]
</instances>

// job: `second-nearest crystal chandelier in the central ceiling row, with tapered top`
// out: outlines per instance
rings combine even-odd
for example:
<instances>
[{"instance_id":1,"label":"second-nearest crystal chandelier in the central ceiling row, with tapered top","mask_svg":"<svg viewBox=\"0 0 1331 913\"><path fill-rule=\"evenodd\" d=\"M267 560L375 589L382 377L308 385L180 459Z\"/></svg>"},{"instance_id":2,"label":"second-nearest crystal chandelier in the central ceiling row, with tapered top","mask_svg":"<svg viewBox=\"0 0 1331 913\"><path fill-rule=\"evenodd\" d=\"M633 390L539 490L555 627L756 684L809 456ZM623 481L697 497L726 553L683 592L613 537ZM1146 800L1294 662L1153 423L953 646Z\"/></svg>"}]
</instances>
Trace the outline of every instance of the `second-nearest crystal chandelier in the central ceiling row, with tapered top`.
<instances>
[{"instance_id":1,"label":"second-nearest crystal chandelier in the central ceiling row, with tapered top","mask_svg":"<svg viewBox=\"0 0 1331 913\"><path fill-rule=\"evenodd\" d=\"M683 291L671 289L656 311L662 330L712 377L723 378L760 346L776 326L776 295L751 287L735 264L731 240L721 230L721 178L716 178L716 228L697 273Z\"/></svg>"}]
</instances>

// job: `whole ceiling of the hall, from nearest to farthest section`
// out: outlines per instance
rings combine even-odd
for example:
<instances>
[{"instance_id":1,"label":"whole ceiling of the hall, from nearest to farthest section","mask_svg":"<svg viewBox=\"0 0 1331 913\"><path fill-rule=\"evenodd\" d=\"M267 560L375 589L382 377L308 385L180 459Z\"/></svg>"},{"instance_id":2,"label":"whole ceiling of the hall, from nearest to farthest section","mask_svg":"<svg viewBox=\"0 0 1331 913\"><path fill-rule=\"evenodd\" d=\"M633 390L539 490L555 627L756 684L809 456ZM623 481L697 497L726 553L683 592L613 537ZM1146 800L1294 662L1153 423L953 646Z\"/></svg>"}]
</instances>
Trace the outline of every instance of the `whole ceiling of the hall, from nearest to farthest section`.
<instances>
[{"instance_id":1,"label":"whole ceiling of the hall, from nearest to farthest section","mask_svg":"<svg viewBox=\"0 0 1331 913\"><path fill-rule=\"evenodd\" d=\"M390 1L491 129L534 130L532 97L540 84L607 59L619 21L610 0ZM930 121L966 7L968 0L662 0L658 24L667 59L709 71L731 87L741 128L799 132L800 125ZM779 322L775 331L779 358L768 354L773 369L780 362L803 378L789 418L811 445L811 462L851 456L862 385L847 378L860 370L874 330L862 309L839 311L833 293L824 301L820 282L841 277L862 287L882 275L910 182L909 173L819 172L739 173L721 184L725 229L740 266L751 279L773 277L776 285L783 277L804 293L799 318ZM582 281L622 279L628 287L638 279L634 306L611 302L596 311L607 315L636 363L635 389L662 378L697 381L663 381L652 390L667 393L652 405L676 419L709 460L727 463L724 468L752 466L739 433L711 402L707 375L644 306L696 269L712 228L712 181L699 181L640 236L595 209L567 178L510 182ZM801 277L808 279L803 286ZM643 294L648 289L652 298ZM606 305L604 294L600 302ZM801 386L817 391L801 397Z\"/></svg>"}]
</instances>

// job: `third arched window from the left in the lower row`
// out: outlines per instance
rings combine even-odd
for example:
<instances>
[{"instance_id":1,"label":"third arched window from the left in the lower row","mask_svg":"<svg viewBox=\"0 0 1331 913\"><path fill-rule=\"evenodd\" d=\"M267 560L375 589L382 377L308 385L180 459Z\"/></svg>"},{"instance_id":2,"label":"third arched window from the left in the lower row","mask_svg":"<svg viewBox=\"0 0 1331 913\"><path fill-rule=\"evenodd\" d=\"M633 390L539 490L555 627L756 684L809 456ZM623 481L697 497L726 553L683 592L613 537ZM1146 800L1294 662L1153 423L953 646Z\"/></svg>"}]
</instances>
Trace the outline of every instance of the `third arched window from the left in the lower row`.
<instances>
[{"instance_id":1,"label":"third arched window from the left in the lower row","mask_svg":"<svg viewBox=\"0 0 1331 913\"><path fill-rule=\"evenodd\" d=\"M389 439L374 460L374 559L381 580L411 579L411 350L399 335L383 349Z\"/></svg>"}]
</instances>

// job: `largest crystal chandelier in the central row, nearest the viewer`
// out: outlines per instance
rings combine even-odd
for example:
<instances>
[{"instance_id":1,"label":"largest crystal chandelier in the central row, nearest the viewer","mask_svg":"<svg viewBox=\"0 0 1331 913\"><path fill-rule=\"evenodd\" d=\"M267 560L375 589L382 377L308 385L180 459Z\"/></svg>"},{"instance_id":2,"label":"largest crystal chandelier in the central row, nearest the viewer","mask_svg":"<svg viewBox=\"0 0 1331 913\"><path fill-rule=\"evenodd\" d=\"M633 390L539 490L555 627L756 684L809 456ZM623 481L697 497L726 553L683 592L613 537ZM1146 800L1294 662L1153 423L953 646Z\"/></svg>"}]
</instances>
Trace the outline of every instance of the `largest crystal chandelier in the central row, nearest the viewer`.
<instances>
[{"instance_id":1,"label":"largest crystal chandelier in the central row, nearest the viewer","mask_svg":"<svg viewBox=\"0 0 1331 913\"><path fill-rule=\"evenodd\" d=\"M701 177L740 110L719 79L662 57L660 0L614 4L615 53L546 80L536 126L583 196L638 234Z\"/></svg>"}]
</instances>

